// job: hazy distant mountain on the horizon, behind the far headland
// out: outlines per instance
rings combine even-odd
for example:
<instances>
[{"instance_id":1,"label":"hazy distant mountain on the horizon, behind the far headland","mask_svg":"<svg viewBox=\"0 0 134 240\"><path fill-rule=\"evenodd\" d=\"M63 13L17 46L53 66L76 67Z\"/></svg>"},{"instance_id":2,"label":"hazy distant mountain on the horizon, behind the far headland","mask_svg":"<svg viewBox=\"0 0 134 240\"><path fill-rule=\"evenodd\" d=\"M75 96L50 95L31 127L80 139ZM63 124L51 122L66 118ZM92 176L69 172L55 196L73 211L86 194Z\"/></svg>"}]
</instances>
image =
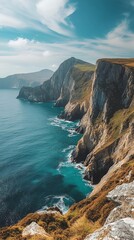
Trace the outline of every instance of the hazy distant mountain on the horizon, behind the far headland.
<instances>
[{"instance_id":1,"label":"hazy distant mountain on the horizon, behind the far headland","mask_svg":"<svg viewBox=\"0 0 134 240\"><path fill-rule=\"evenodd\" d=\"M0 78L0 89L2 88L22 88L36 87L48 80L53 75L53 71L43 69L39 72L14 74L5 78Z\"/></svg>"}]
</instances>

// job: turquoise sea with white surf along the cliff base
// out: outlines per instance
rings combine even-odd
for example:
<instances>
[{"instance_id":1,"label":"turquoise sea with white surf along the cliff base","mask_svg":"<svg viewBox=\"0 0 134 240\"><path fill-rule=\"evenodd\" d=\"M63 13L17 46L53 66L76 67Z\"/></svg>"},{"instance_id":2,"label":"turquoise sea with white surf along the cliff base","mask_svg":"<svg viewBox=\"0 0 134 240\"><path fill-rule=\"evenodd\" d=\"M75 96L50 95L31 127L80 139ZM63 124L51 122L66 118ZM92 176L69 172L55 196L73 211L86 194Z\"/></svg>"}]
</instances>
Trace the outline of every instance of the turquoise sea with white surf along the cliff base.
<instances>
[{"instance_id":1,"label":"turquoise sea with white surf along the cliff base","mask_svg":"<svg viewBox=\"0 0 134 240\"><path fill-rule=\"evenodd\" d=\"M76 123L59 120L52 103L17 100L0 90L0 226L56 205L64 212L91 187L70 161Z\"/></svg>"}]
</instances>

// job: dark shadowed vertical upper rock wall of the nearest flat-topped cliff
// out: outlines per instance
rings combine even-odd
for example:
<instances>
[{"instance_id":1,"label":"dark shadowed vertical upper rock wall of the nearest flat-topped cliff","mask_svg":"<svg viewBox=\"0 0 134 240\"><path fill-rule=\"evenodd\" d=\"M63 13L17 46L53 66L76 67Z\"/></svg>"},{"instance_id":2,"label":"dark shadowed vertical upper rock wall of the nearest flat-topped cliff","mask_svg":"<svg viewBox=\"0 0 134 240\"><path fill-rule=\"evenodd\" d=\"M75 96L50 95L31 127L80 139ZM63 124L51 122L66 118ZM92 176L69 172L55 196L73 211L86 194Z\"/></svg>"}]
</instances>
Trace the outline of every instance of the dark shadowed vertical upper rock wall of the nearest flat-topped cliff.
<instances>
[{"instance_id":1,"label":"dark shadowed vertical upper rock wall of the nearest flat-topped cliff","mask_svg":"<svg viewBox=\"0 0 134 240\"><path fill-rule=\"evenodd\" d=\"M91 121L99 114L108 122L113 114L128 108L134 93L134 69L108 61L98 61L92 94Z\"/></svg>"}]
</instances>

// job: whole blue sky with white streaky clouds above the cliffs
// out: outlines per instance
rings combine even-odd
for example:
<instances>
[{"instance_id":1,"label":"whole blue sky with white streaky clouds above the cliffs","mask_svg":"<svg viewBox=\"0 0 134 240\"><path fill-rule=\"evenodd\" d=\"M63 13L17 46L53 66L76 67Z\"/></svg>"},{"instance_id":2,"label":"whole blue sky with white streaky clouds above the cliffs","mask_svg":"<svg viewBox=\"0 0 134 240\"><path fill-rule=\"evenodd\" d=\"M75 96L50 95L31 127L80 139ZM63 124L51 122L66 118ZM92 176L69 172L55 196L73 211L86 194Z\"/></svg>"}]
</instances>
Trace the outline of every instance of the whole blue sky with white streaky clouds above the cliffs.
<instances>
[{"instance_id":1,"label":"whole blue sky with white streaky clouds above the cliffs","mask_svg":"<svg viewBox=\"0 0 134 240\"><path fill-rule=\"evenodd\" d=\"M134 0L0 0L0 77L134 57Z\"/></svg>"}]
</instances>

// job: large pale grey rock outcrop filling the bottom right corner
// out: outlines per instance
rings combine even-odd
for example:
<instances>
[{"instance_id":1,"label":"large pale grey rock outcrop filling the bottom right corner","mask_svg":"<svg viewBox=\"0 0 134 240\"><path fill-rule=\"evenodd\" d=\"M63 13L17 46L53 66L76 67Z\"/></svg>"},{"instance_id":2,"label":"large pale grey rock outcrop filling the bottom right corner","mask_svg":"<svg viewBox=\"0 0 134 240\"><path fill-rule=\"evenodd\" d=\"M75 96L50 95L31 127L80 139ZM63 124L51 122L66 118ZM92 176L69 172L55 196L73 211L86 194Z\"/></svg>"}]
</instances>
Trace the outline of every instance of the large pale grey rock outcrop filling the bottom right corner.
<instances>
[{"instance_id":1,"label":"large pale grey rock outcrop filling the bottom right corner","mask_svg":"<svg viewBox=\"0 0 134 240\"><path fill-rule=\"evenodd\" d=\"M134 181L117 186L107 198L119 206L110 212L104 226L85 240L134 239Z\"/></svg>"}]
</instances>

